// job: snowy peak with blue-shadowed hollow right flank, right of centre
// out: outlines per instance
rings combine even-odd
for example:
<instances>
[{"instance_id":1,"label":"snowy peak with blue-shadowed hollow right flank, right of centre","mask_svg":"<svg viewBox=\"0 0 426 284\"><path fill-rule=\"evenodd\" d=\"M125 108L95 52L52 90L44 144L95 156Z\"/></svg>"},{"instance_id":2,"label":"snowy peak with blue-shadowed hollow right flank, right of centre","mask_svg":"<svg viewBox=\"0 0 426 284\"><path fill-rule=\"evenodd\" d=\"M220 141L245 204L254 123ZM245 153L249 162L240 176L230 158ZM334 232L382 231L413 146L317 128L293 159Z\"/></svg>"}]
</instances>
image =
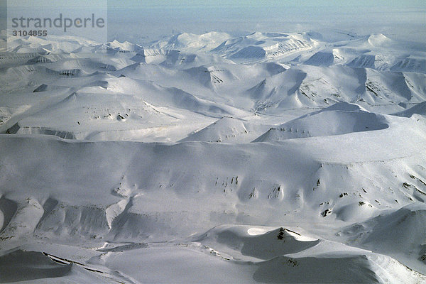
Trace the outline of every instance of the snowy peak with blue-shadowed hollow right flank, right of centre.
<instances>
[{"instance_id":1,"label":"snowy peak with blue-shadowed hollow right flank, right of centre","mask_svg":"<svg viewBox=\"0 0 426 284\"><path fill-rule=\"evenodd\" d=\"M388 121L386 121L384 116L361 110L355 104L338 103L327 109L312 112L311 114L301 116L298 119L269 129L253 142L340 135L386 128L388 128Z\"/></svg>"}]
</instances>

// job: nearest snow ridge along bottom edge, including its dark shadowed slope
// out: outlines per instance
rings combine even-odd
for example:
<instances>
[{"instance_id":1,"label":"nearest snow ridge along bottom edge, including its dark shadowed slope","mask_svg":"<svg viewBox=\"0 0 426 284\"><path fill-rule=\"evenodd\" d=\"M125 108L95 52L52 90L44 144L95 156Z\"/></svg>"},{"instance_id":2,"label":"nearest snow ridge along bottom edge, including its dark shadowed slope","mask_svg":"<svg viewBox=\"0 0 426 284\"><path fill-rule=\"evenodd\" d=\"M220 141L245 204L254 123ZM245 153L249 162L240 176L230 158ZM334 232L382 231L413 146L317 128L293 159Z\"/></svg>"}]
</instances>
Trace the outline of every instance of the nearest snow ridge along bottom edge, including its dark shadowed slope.
<instances>
[{"instance_id":1,"label":"nearest snow ridge along bottom edge, including its dark shadowed slope","mask_svg":"<svg viewBox=\"0 0 426 284\"><path fill-rule=\"evenodd\" d=\"M92 258L90 263L122 271L129 275L127 279L142 283L168 283L170 279L173 283L421 283L425 280L392 258L362 250L349 249L344 253L347 255L298 258L285 255L267 261L243 261L197 243L148 244L144 249Z\"/></svg>"}]
</instances>

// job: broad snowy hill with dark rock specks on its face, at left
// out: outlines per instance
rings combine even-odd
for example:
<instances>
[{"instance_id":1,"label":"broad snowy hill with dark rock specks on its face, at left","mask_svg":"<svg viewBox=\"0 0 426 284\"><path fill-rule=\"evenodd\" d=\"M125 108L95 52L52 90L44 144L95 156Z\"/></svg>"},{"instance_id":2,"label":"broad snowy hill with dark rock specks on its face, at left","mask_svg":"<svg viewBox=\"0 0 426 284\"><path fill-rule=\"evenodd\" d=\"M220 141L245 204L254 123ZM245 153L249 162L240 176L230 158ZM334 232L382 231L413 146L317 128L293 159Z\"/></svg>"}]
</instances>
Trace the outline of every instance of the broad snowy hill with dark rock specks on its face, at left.
<instances>
[{"instance_id":1,"label":"broad snowy hill with dark rock specks on its face, at left","mask_svg":"<svg viewBox=\"0 0 426 284\"><path fill-rule=\"evenodd\" d=\"M64 114L67 114L66 123L62 121ZM77 92L19 121L17 133L82 139L115 132L116 138L121 140L117 131L137 132L175 121L178 119L170 116L167 110L159 111L133 95Z\"/></svg>"}]
</instances>

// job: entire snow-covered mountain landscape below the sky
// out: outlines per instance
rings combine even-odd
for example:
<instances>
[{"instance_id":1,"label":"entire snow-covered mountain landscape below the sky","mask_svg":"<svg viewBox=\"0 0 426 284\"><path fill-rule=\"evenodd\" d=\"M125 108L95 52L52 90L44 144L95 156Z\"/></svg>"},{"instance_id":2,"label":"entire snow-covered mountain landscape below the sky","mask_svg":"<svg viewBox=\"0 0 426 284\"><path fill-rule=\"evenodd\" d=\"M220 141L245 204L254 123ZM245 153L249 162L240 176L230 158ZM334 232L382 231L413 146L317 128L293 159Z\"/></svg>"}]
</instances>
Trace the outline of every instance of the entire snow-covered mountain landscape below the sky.
<instances>
[{"instance_id":1,"label":"entire snow-covered mountain landscape below the sky","mask_svg":"<svg viewBox=\"0 0 426 284\"><path fill-rule=\"evenodd\" d=\"M8 47L0 282L426 280L424 45L209 32Z\"/></svg>"}]
</instances>

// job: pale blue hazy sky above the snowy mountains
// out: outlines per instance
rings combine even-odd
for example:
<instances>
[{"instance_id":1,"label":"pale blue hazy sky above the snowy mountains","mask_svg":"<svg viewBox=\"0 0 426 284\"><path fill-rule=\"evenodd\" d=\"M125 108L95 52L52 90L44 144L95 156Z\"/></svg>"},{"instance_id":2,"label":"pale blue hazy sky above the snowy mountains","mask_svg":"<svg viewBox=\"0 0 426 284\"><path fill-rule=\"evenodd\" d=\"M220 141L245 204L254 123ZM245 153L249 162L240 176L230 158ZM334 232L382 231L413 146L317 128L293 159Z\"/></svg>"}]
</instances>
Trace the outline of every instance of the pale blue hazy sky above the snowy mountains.
<instances>
[{"instance_id":1,"label":"pale blue hazy sky above the snowy mountains","mask_svg":"<svg viewBox=\"0 0 426 284\"><path fill-rule=\"evenodd\" d=\"M143 43L161 35L205 31L315 31L385 33L426 42L426 0L234 1L107 0L109 38ZM0 0L0 4L6 0ZM103 0L9 0L9 6L87 7Z\"/></svg>"}]
</instances>

